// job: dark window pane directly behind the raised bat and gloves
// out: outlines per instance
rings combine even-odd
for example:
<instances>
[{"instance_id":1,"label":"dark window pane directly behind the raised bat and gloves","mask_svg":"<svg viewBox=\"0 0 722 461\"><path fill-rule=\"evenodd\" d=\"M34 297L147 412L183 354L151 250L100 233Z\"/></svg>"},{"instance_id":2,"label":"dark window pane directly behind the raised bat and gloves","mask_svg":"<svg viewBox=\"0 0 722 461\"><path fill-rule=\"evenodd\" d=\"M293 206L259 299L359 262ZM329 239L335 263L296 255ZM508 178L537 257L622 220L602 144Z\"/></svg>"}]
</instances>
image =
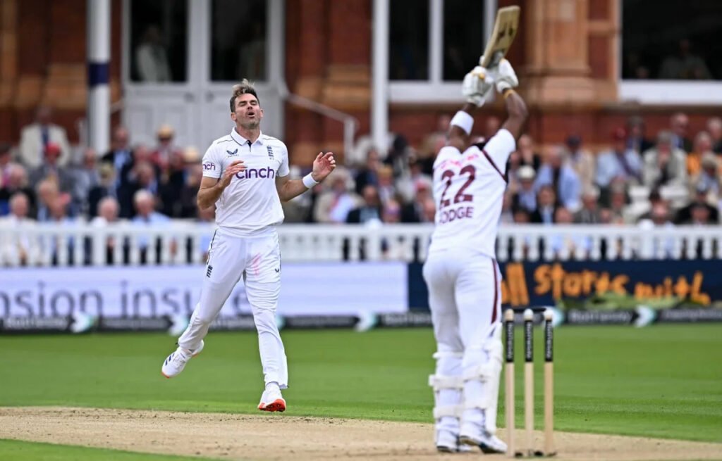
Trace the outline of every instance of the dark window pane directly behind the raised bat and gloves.
<instances>
[{"instance_id":1,"label":"dark window pane directly behind the raised bat and gloves","mask_svg":"<svg viewBox=\"0 0 722 461\"><path fill-rule=\"evenodd\" d=\"M484 50L484 2L444 1L443 79L463 80Z\"/></svg>"}]
</instances>

